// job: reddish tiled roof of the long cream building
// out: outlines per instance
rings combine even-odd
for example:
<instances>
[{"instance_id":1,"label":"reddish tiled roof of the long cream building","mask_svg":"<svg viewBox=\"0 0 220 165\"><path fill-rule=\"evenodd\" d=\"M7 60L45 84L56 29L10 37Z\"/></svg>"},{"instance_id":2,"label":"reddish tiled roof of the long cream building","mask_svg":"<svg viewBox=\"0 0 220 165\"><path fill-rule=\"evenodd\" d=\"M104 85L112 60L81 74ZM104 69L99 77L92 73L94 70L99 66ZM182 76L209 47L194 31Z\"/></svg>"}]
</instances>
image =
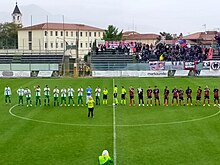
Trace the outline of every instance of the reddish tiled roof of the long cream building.
<instances>
[{"instance_id":1,"label":"reddish tiled roof of the long cream building","mask_svg":"<svg viewBox=\"0 0 220 165\"><path fill-rule=\"evenodd\" d=\"M84 25L67 23L42 23L24 27L21 30L80 30L80 31L104 31L104 29Z\"/></svg>"}]
</instances>

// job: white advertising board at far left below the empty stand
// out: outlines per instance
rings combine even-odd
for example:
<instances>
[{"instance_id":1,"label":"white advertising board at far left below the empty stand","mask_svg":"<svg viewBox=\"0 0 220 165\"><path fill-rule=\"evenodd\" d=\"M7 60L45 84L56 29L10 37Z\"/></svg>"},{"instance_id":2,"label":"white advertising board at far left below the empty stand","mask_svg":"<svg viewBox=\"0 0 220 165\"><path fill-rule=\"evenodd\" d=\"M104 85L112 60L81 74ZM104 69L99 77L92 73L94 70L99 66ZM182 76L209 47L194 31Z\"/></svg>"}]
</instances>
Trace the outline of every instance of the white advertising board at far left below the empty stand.
<instances>
[{"instance_id":1,"label":"white advertising board at far left below the empty stand","mask_svg":"<svg viewBox=\"0 0 220 165\"><path fill-rule=\"evenodd\" d=\"M0 71L0 77L2 78L25 78L31 77L30 71Z\"/></svg>"}]
</instances>

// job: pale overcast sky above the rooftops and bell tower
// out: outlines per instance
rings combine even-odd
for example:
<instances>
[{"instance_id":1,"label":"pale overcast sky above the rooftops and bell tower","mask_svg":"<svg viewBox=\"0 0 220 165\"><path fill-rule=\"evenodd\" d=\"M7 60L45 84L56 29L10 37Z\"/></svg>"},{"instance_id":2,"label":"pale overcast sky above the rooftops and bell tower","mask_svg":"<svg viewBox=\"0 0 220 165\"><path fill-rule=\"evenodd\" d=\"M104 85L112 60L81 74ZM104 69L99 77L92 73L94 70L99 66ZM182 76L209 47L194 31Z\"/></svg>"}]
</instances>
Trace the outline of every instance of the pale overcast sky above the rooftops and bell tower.
<instances>
[{"instance_id":1,"label":"pale overcast sky above the rooftops and bell tower","mask_svg":"<svg viewBox=\"0 0 220 165\"><path fill-rule=\"evenodd\" d=\"M0 0L0 11L12 12L15 2ZM207 30L220 28L220 0L18 0L21 7L31 4L54 15L53 22L64 15L66 22L100 28L113 24L124 31L184 34L204 31L204 24Z\"/></svg>"}]
</instances>

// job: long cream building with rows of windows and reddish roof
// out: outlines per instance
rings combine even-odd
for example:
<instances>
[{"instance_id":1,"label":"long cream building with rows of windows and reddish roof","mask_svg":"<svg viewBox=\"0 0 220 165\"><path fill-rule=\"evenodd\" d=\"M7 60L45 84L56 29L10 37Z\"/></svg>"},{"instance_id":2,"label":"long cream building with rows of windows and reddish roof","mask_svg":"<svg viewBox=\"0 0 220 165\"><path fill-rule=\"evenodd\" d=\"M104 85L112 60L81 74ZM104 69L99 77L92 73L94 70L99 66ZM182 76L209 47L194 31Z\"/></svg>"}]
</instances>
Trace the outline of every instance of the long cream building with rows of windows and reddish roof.
<instances>
[{"instance_id":1,"label":"long cream building with rows of windows and reddish roof","mask_svg":"<svg viewBox=\"0 0 220 165\"><path fill-rule=\"evenodd\" d=\"M83 24L42 23L18 31L18 49L36 53L64 51L73 58L78 50L78 57L83 58L91 50L93 42L103 38L104 31Z\"/></svg>"}]
</instances>

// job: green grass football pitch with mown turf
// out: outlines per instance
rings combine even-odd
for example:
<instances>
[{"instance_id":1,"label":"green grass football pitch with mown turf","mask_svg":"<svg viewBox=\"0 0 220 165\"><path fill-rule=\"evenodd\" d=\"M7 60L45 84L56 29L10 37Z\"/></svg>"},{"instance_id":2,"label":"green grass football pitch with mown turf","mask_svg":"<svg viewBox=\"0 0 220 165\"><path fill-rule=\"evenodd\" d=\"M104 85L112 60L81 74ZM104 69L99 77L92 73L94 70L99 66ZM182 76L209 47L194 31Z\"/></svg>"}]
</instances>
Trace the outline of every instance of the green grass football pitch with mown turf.
<instances>
[{"instance_id":1,"label":"green grass football pitch with mown turf","mask_svg":"<svg viewBox=\"0 0 220 165\"><path fill-rule=\"evenodd\" d=\"M220 162L220 114L213 106L213 88L220 88L219 78L115 78L119 95L121 86L128 92L139 85L157 85L163 101L164 86L184 90L190 86L195 100L196 88L211 89L211 106L152 106L115 108L116 137L113 133L112 78L88 79L1 79L0 95L0 165L95 165L107 149L118 165L218 165ZM16 106L16 90L28 86L51 89L57 85L75 90L99 85L109 90L108 106L95 107L95 118L88 119L86 107ZM4 87L12 88L12 104L4 103ZM93 93L94 96L94 93ZM42 97L43 98L43 97ZM118 97L119 98L119 97ZM170 96L171 98L171 96ZM202 97L203 98L203 97ZM135 95L137 101L137 95ZM53 98L51 97L51 101ZM76 101L76 93L75 93ZM120 101L120 99L119 99ZM23 117L23 118L19 118ZM30 119L30 120L27 120Z\"/></svg>"}]
</instances>

